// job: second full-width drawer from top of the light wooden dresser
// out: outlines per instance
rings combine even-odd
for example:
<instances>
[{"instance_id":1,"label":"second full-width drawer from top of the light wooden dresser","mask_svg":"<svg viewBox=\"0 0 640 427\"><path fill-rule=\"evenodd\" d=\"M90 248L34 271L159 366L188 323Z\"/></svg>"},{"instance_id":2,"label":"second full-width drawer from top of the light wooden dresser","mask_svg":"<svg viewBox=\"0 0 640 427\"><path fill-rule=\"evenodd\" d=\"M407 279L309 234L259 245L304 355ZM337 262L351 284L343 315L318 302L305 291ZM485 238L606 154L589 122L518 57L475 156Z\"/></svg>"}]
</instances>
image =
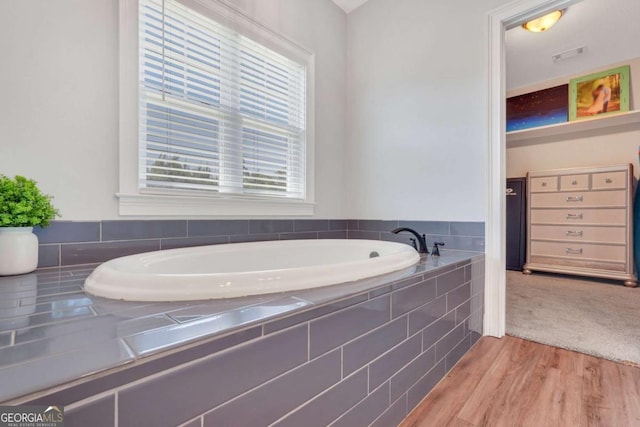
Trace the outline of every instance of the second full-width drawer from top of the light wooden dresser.
<instances>
[{"instance_id":1,"label":"second full-width drawer from top of the light wooden dresser","mask_svg":"<svg viewBox=\"0 0 640 427\"><path fill-rule=\"evenodd\" d=\"M626 209L531 209L529 213L532 225L627 225Z\"/></svg>"}]
</instances>

